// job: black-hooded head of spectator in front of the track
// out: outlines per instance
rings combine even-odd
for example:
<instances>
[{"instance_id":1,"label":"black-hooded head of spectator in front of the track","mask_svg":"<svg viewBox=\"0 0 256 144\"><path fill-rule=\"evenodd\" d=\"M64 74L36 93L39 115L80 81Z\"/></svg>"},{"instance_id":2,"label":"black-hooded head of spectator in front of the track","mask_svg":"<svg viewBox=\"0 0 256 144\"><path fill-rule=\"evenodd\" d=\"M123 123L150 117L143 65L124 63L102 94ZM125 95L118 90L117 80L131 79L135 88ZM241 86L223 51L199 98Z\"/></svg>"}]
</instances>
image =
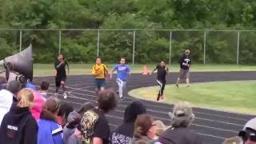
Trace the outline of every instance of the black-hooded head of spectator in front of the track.
<instances>
[{"instance_id":1,"label":"black-hooded head of spectator in front of the track","mask_svg":"<svg viewBox=\"0 0 256 144\"><path fill-rule=\"evenodd\" d=\"M130 105L126 107L124 122L135 122L139 114L146 114L146 106L144 106L141 101L131 102Z\"/></svg>"}]
</instances>

